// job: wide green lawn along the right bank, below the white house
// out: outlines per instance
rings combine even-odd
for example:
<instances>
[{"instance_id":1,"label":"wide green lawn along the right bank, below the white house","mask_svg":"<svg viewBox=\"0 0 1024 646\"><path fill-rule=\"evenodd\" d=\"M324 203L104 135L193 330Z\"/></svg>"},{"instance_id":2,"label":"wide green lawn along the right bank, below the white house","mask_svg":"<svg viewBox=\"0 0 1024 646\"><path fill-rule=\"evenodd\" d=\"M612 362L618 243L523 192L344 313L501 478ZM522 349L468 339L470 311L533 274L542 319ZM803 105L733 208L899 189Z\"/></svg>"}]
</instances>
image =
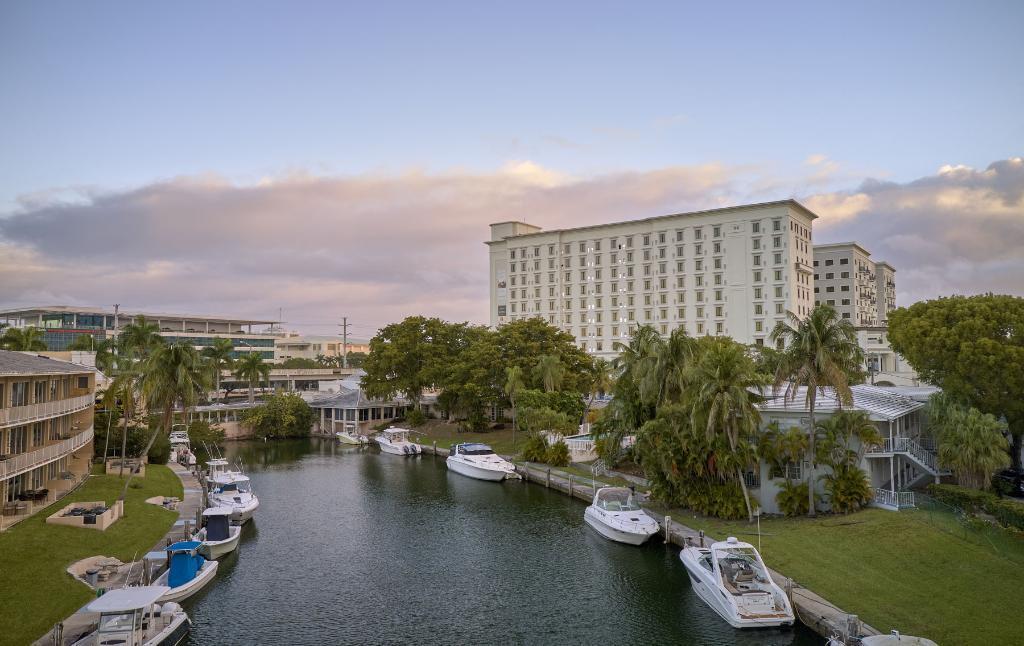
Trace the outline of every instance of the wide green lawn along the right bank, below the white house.
<instances>
[{"instance_id":1,"label":"wide green lawn along the right bank, below the white house","mask_svg":"<svg viewBox=\"0 0 1024 646\"><path fill-rule=\"evenodd\" d=\"M756 524L670 513L715 539L757 545ZM999 556L940 527L919 510L766 519L762 555L769 567L882 632L897 629L939 644L1020 643L1024 542L1009 556L1000 546Z\"/></svg>"}]
</instances>

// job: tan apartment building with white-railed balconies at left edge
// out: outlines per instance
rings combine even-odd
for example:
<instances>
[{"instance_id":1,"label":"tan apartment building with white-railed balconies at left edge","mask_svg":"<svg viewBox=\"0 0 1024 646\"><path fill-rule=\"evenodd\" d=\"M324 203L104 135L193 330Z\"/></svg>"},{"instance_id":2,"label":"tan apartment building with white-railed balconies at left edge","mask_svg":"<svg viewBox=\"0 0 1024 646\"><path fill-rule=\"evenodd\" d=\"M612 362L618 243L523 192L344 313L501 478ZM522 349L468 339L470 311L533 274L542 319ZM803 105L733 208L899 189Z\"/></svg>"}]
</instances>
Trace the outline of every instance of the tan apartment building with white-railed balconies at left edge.
<instances>
[{"instance_id":1,"label":"tan apartment building with white-railed balconies at left edge","mask_svg":"<svg viewBox=\"0 0 1024 646\"><path fill-rule=\"evenodd\" d=\"M87 477L95 385L83 365L0 350L0 528Z\"/></svg>"}]
</instances>

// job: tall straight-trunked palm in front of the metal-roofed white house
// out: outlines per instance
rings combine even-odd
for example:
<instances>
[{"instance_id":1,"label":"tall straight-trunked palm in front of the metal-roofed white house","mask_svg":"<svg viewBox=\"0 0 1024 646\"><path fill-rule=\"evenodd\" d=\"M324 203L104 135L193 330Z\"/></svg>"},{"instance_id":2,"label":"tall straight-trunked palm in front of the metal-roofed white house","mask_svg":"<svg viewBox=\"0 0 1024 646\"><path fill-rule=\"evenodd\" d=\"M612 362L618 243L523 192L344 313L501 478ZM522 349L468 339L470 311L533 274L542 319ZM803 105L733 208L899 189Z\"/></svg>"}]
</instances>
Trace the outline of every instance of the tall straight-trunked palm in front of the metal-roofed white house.
<instances>
[{"instance_id":1,"label":"tall straight-trunked palm in front of the metal-roofed white house","mask_svg":"<svg viewBox=\"0 0 1024 646\"><path fill-rule=\"evenodd\" d=\"M841 405L853 403L849 376L855 374L863 362L863 353L857 345L853 325L840 318L828 305L818 305L807 318L788 312L790 322L779 321L769 337L773 343L782 343L784 349L775 371L772 392L777 394L785 384L784 399L794 401L801 387L805 388L805 403L810 417L808 425L807 475L808 511L814 510L815 435L817 424L814 406L818 391L831 388Z\"/></svg>"}]
</instances>

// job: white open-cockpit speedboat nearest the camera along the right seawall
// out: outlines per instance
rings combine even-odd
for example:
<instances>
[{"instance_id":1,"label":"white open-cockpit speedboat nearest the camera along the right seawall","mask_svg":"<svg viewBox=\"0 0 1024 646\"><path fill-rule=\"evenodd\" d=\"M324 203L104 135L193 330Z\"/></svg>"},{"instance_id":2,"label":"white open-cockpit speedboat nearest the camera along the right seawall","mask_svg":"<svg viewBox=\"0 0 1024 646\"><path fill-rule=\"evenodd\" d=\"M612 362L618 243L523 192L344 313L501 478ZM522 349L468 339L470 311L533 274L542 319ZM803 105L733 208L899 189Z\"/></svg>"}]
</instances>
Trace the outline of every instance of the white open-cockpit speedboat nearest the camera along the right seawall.
<instances>
[{"instance_id":1,"label":"white open-cockpit speedboat nearest the camera along the right seawall","mask_svg":"<svg viewBox=\"0 0 1024 646\"><path fill-rule=\"evenodd\" d=\"M761 555L735 536L710 548L679 553L693 590L733 628L793 626L793 606L775 585Z\"/></svg>"}]
</instances>

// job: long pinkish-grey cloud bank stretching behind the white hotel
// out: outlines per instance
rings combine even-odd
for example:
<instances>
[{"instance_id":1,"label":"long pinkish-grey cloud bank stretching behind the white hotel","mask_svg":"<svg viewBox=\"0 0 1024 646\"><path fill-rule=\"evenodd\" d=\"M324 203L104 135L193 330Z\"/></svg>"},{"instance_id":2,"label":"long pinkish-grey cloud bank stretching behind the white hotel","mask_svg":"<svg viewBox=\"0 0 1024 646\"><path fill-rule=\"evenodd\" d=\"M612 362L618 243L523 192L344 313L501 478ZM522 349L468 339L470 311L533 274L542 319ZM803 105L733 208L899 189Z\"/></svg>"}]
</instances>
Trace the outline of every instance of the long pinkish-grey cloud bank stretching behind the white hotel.
<instances>
[{"instance_id":1,"label":"long pinkish-grey cloud bank stretching behind the white hotel","mask_svg":"<svg viewBox=\"0 0 1024 646\"><path fill-rule=\"evenodd\" d=\"M811 160L808 160L809 162ZM820 156L808 176L831 162ZM0 303L121 303L284 318L369 335L410 313L486 322L487 225L563 228L793 195L807 177L723 164L573 177L531 161L489 173L208 174L103 192L37 193L0 217ZM1024 163L944 167L806 199L818 242L857 240L896 266L901 304L1024 292Z\"/></svg>"}]
</instances>

